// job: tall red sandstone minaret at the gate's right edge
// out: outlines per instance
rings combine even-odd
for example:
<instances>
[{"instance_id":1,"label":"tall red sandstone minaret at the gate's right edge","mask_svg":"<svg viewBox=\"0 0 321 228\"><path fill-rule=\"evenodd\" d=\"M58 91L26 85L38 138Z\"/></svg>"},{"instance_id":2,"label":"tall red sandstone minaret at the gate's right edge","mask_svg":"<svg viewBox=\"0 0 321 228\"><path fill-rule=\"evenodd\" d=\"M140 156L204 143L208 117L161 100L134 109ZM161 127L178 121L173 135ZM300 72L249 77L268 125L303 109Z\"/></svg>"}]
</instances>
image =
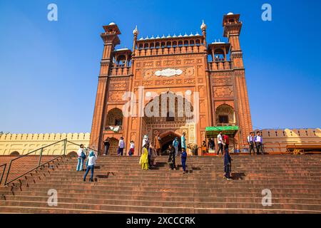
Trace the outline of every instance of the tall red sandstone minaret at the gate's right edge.
<instances>
[{"instance_id":1,"label":"tall red sandstone minaret at the gate's right edge","mask_svg":"<svg viewBox=\"0 0 321 228\"><path fill-rule=\"evenodd\" d=\"M235 75L235 110L238 113L238 125L240 127L240 145L246 144L248 134L253 130L248 101L248 90L245 81L245 68L243 64L243 52L240 48L240 31L242 22L240 14L228 13L223 18L224 37L231 44L230 61L233 63Z\"/></svg>"}]
</instances>

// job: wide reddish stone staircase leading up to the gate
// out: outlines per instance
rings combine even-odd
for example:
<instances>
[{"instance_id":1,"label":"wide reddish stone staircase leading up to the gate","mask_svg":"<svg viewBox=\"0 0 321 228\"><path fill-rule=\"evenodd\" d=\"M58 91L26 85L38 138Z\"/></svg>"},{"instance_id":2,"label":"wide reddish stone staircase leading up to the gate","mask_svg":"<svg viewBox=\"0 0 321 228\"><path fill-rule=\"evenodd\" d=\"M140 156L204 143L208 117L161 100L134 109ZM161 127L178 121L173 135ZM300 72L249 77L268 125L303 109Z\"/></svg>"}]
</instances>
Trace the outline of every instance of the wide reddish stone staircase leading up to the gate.
<instances>
[{"instance_id":1,"label":"wide reddish stone staircase leading up to the gate","mask_svg":"<svg viewBox=\"0 0 321 228\"><path fill-rule=\"evenodd\" d=\"M65 157L0 187L0 213L321 212L321 155L233 156L230 182L223 180L223 157L188 157L187 174L180 160L173 171L167 157L148 171L138 160L98 157L95 182L89 176L83 182L76 157ZM58 192L56 207L47 203L51 189ZM272 192L270 207L262 204L265 189Z\"/></svg>"}]
</instances>

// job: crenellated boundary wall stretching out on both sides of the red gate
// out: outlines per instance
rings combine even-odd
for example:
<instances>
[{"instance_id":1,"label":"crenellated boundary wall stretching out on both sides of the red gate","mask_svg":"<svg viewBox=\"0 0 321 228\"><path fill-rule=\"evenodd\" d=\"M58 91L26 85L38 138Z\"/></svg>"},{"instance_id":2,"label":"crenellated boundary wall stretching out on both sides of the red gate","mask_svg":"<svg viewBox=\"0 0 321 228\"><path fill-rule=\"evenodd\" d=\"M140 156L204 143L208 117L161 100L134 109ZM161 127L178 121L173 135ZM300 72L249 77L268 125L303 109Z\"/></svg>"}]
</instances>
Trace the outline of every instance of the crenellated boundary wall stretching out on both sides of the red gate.
<instances>
[{"instance_id":1,"label":"crenellated boundary wall stretching out on both sides of the red gate","mask_svg":"<svg viewBox=\"0 0 321 228\"><path fill-rule=\"evenodd\" d=\"M255 130L255 132L258 130ZM286 152L287 145L317 144L321 145L321 129L278 129L260 130L263 133L265 152ZM89 145L90 133L46 133L46 134L2 134L0 135L0 155L11 155L19 152L25 155L28 152L67 138L78 145ZM67 144L66 153L76 152L78 145ZM52 145L44 150L44 155L63 154L63 142ZM37 153L39 155L39 152Z\"/></svg>"}]
</instances>

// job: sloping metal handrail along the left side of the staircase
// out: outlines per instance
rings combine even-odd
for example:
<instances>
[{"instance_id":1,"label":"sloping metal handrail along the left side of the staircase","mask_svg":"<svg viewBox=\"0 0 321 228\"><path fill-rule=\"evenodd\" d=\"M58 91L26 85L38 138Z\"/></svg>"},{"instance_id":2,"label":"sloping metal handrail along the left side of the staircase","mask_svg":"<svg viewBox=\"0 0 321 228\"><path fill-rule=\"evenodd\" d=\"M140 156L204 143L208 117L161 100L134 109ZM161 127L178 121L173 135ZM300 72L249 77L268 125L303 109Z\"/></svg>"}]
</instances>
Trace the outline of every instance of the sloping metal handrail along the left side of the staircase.
<instances>
[{"instance_id":1,"label":"sloping metal handrail along the left side of the staircase","mask_svg":"<svg viewBox=\"0 0 321 228\"><path fill-rule=\"evenodd\" d=\"M57 160L57 159L60 158L60 157L66 156L66 143L68 142L67 139L60 140L60 141L58 141L58 142L51 143L50 145L46 145L46 146L41 147L41 148L39 148L39 149L37 149L37 150L31 151L31 152L27 153L26 155L21 155L21 156L19 156L19 157L16 157L16 158L10 160L9 167L8 167L8 171L6 172L6 179L5 179L5 181L4 181L4 185L9 185L11 182L14 182L15 180L18 180L19 178L23 177L24 175L27 175L27 174L29 174L30 172L38 169L39 167L48 164L49 162L46 162L46 163L44 163L44 164L41 165L41 158L42 158L42 152L43 152L43 150L44 150L46 147L50 147L50 146L52 146L52 145L56 145L56 144L58 144L58 143L60 143L60 142L64 142L64 143L63 143L63 155L59 155L58 157L55 157L54 159L52 159L52 160L49 161L49 162L53 162L54 160ZM40 155L39 155L39 163L38 163L38 166L35 167L34 169L29 170L28 172L25 172L23 175L20 175L19 177L14 178L14 180L10 180L10 181L8 182L8 177L9 177L9 174L10 174L12 162L14 162L15 160L21 159L22 157L26 157L27 155L30 155L30 154L33 153L33 152L37 152L38 150L41 151L41 152L40 152Z\"/></svg>"}]
</instances>

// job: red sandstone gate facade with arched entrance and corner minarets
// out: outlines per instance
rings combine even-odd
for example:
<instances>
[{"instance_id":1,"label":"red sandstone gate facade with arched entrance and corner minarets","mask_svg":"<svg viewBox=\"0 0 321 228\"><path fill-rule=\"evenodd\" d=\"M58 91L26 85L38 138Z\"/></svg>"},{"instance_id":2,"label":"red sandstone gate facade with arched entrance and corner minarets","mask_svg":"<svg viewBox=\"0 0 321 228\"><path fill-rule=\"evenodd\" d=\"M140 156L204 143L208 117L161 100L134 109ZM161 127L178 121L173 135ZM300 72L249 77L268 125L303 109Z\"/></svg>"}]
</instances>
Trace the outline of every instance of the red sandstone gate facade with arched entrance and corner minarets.
<instances>
[{"instance_id":1,"label":"red sandstone gate facade with arched entrance and corner minarets","mask_svg":"<svg viewBox=\"0 0 321 228\"><path fill-rule=\"evenodd\" d=\"M235 145L243 147L246 137L253 129L248 91L245 83L243 52L240 48L242 22L239 14L228 14L223 18L223 36L228 43L207 43L206 25L202 34L190 36L163 36L138 40L137 28L133 31L133 50L119 49L116 24L103 26L103 58L98 77L96 104L91 128L91 145L103 150L103 140L111 138L111 154L116 152L118 140L123 136L126 148L130 140L136 142L136 151L141 147L143 135L153 140L161 133L163 144L186 133L187 143L201 145L205 139L205 128L209 126L238 125ZM156 76L166 69L180 70L175 76ZM143 86L143 92L139 88ZM123 106L128 100L126 92L138 98L143 93L142 107L155 98L148 94L198 93L199 99L190 99L193 111L199 120L187 123L186 118L146 118L123 116ZM135 101L137 104L138 102ZM138 105L137 105L138 106ZM134 112L139 112L138 108ZM131 110L133 111L133 110ZM176 108L177 111L177 108ZM111 127L120 125L118 132ZM127 149L126 149L127 151ZM136 155L138 153L136 152Z\"/></svg>"}]
</instances>

